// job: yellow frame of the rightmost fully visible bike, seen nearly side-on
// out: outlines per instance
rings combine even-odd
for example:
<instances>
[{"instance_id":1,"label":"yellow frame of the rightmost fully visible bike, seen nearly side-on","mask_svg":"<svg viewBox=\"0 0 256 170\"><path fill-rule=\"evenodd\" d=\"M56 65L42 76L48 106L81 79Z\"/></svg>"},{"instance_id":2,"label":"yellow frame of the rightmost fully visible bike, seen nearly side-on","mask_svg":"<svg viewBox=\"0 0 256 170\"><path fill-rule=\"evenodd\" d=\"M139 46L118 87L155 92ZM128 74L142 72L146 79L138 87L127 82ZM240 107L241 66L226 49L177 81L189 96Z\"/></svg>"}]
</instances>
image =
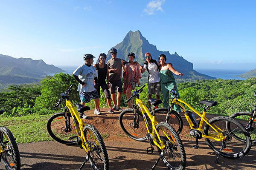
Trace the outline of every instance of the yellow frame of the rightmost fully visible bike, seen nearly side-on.
<instances>
[{"instance_id":1,"label":"yellow frame of the rightmost fully visible bike, seen nearly side-on","mask_svg":"<svg viewBox=\"0 0 256 170\"><path fill-rule=\"evenodd\" d=\"M201 117L201 120L200 120L200 123L199 123L198 128L194 128L194 127L193 127L193 123L192 123L191 119L189 118L189 116L187 115L185 107L184 107L183 105L181 105L181 103L183 103L184 105L186 105L188 108L190 108L193 112L195 112L198 116ZM212 125L209 124L209 119L207 119L207 118L205 117L205 115L206 115L206 110L207 110L207 109L204 109L203 114L201 114L201 113L199 113L198 111L196 111L194 108L192 108L192 106L189 105L188 103L186 103L185 101L183 101L183 100L181 100L181 99L174 98L174 99L172 99L172 104L169 106L169 107L170 107L170 108L169 108L169 114L171 113L172 107L173 107L175 104L178 105L178 106L180 106L180 108L183 110L184 115L185 115L185 117L186 117L186 120L187 120L188 123L189 123L190 128L191 128L191 129L196 129L196 130L201 131L202 136L203 136L204 138L214 139L214 140L216 140L216 141L222 141L223 139L226 138L226 136L223 136L222 133L219 133L219 132L218 132L218 130L221 131L221 128L219 128L218 126L216 126L216 125L214 125L214 124L212 124ZM169 115L167 115L167 116L169 117ZM169 119L169 118L168 118L168 119ZM203 127L203 123L204 123L204 122L206 122L210 127L212 127L212 129L213 129L216 133L218 133L218 135L212 135L212 134L211 134L211 135L204 135L204 132L203 132L203 130L202 130L202 127Z\"/></svg>"}]
</instances>

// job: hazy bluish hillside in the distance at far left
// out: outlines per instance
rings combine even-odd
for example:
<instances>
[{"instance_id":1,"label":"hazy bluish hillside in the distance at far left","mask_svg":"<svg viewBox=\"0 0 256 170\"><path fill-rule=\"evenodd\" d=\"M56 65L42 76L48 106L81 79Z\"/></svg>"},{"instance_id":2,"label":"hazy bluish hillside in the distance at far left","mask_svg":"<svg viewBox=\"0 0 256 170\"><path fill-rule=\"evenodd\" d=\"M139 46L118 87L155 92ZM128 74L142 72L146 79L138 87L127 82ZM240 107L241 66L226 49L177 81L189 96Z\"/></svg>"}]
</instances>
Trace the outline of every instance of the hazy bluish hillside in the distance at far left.
<instances>
[{"instance_id":1,"label":"hazy bluish hillside in the distance at far left","mask_svg":"<svg viewBox=\"0 0 256 170\"><path fill-rule=\"evenodd\" d=\"M61 68L46 64L42 59L14 58L0 54L0 83L38 82L42 76L64 72Z\"/></svg>"}]
</instances>

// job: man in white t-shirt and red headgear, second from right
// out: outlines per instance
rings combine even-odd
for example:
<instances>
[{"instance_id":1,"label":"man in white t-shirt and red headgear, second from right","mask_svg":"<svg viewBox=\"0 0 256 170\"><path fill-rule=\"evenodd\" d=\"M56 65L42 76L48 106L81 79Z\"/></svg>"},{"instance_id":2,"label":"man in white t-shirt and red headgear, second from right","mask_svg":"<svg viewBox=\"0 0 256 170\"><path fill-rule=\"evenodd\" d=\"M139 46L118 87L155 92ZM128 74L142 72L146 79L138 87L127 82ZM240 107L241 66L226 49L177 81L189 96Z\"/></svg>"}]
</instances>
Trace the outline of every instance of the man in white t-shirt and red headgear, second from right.
<instances>
[{"instance_id":1,"label":"man in white t-shirt and red headgear, second from right","mask_svg":"<svg viewBox=\"0 0 256 170\"><path fill-rule=\"evenodd\" d=\"M148 71L148 99L151 99L152 94L156 94L157 99L160 99L160 77L159 77L159 66L160 63L152 59L149 52L145 53L145 65L140 66L141 73ZM148 102L148 106L151 109L151 103Z\"/></svg>"}]
</instances>

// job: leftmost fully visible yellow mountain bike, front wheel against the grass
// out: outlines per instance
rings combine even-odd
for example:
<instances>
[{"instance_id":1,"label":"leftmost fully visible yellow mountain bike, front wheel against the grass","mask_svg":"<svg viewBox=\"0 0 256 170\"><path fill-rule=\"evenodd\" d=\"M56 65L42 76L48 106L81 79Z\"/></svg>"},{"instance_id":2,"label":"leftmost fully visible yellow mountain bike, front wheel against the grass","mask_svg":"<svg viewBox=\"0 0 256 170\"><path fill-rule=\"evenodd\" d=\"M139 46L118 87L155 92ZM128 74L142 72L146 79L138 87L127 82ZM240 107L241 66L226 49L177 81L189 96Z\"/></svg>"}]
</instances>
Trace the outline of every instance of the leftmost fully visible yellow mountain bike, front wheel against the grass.
<instances>
[{"instance_id":1,"label":"leftmost fully visible yellow mountain bike, front wheel against the grass","mask_svg":"<svg viewBox=\"0 0 256 170\"><path fill-rule=\"evenodd\" d=\"M61 99L55 107L64 110L62 113L55 113L47 122L49 135L57 142L62 144L78 144L81 149L87 153L84 164L89 161L93 170L108 170L109 160L108 153L103 142L102 136L93 125L85 125L82 121L84 111L90 110L84 105L76 105L77 109L69 100L68 94L73 85L61 94ZM61 107L61 102L66 99L66 105ZM88 169L88 168L87 168Z\"/></svg>"}]
</instances>

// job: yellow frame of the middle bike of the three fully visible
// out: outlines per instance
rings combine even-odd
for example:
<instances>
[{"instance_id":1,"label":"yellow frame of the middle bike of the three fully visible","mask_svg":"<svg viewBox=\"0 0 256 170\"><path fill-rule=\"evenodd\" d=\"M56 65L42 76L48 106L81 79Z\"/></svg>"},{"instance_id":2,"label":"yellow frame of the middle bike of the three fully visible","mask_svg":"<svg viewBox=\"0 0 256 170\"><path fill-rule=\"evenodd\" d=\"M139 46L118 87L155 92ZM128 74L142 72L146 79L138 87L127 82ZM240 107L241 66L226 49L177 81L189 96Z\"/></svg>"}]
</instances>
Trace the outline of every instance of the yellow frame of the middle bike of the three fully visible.
<instances>
[{"instance_id":1,"label":"yellow frame of the middle bike of the three fully visible","mask_svg":"<svg viewBox=\"0 0 256 170\"><path fill-rule=\"evenodd\" d=\"M147 106L140 100L140 99L136 99L136 105L138 105L141 109L141 112L143 114L143 119L144 119L144 122L145 122L145 125L147 127L147 130L148 130L148 133L150 133L152 136L153 136L153 142L154 144L157 145L157 147L159 147L161 150L163 150L163 148L165 147L165 145L163 144L163 141L160 139L160 136L157 132L157 129L155 127L155 125L158 124L158 122L155 120L155 115L151 115L151 113L148 111L148 108ZM150 132L149 130L149 127L148 127L148 123L147 123L147 119L146 119L146 116L145 114L148 115L149 119L151 120L151 124L152 124L152 132ZM166 135L166 133L163 131L163 133ZM158 144L155 140L155 134L157 135L157 139L160 141L160 144ZM169 136L166 135L166 137L169 139L169 141L172 142L172 140L169 138ZM174 137L171 136L172 139L175 141Z\"/></svg>"}]
</instances>

